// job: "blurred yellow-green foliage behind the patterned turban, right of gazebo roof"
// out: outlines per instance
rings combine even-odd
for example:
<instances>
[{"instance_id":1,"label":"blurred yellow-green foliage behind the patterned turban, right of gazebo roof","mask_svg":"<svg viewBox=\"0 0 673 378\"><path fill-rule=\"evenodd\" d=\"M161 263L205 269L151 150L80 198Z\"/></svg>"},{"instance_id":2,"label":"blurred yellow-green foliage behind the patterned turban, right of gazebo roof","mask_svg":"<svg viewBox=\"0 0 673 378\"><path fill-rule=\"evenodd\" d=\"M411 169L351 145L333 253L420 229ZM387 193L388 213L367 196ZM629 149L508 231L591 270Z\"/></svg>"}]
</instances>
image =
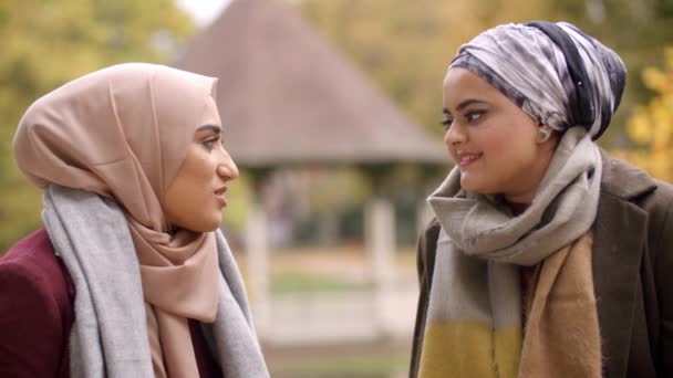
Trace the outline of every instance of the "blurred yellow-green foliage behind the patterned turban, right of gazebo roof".
<instances>
[{"instance_id":1,"label":"blurred yellow-green foliage behind the patterned turban, right of gazebo roof","mask_svg":"<svg viewBox=\"0 0 673 378\"><path fill-rule=\"evenodd\" d=\"M290 1L290 0L287 0ZM441 87L456 49L479 32L506 22L566 20L623 57L631 72L656 64L673 42L673 0L303 0L302 14L401 104L415 119L442 133ZM630 81L612 127L601 138L627 137L633 104L650 98Z\"/></svg>"}]
</instances>

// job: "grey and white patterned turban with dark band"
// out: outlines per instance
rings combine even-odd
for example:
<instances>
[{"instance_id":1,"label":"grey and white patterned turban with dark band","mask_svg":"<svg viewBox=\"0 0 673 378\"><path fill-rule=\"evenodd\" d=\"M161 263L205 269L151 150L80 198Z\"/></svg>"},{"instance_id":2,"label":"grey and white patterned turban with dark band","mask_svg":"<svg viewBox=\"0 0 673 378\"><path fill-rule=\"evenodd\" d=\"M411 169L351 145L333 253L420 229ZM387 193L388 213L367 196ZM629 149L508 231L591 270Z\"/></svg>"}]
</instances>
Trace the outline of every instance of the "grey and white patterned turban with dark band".
<instances>
[{"instance_id":1,"label":"grey and white patterned turban with dark band","mask_svg":"<svg viewBox=\"0 0 673 378\"><path fill-rule=\"evenodd\" d=\"M536 21L487 30L462 45L464 67L540 124L563 133L584 126L596 140L610 125L627 83L619 55L567 22Z\"/></svg>"}]
</instances>

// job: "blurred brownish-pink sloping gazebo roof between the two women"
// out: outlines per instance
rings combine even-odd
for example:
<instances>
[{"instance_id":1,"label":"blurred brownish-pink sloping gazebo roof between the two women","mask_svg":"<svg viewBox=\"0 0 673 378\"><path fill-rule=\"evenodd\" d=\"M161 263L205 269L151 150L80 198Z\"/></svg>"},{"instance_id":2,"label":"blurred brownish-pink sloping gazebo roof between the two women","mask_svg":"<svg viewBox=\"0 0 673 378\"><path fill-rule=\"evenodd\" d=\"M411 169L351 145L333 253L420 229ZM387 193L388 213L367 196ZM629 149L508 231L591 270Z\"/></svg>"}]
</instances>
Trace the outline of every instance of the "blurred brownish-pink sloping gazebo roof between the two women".
<instances>
[{"instance_id":1,"label":"blurred brownish-pink sloping gazebo roof between the two women","mask_svg":"<svg viewBox=\"0 0 673 378\"><path fill-rule=\"evenodd\" d=\"M175 66L219 77L225 146L240 166L447 161L438 138L275 0L234 0Z\"/></svg>"}]
</instances>

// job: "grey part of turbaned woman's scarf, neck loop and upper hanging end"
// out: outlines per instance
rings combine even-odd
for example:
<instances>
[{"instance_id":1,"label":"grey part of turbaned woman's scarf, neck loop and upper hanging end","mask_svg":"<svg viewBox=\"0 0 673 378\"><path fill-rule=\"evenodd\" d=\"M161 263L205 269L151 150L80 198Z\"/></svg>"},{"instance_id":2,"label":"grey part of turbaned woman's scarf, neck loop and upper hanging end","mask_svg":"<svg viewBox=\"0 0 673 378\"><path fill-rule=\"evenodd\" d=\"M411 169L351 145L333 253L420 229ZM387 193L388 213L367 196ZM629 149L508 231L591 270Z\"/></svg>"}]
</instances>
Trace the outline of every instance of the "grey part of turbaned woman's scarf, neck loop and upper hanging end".
<instances>
[{"instance_id":1,"label":"grey part of turbaned woman's scarf, neck loop and upper hanging end","mask_svg":"<svg viewBox=\"0 0 673 378\"><path fill-rule=\"evenodd\" d=\"M569 129L531 206L511 217L493 196L465 192L454 169L428 201L442 224L427 324L477 319L520 327L518 265L535 265L584 234L598 209L601 158L582 127Z\"/></svg>"}]
</instances>

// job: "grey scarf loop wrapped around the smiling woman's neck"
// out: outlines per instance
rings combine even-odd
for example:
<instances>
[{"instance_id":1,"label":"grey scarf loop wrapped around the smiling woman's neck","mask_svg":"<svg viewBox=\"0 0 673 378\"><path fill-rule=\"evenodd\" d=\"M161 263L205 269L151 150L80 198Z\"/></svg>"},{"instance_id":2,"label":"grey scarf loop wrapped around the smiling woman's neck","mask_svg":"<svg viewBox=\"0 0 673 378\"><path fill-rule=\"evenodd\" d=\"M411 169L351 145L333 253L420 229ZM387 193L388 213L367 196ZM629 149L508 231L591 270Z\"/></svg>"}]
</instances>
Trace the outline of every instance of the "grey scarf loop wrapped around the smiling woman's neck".
<instances>
[{"instance_id":1,"label":"grey scarf loop wrapped around the smiling woman's neck","mask_svg":"<svg viewBox=\"0 0 673 378\"><path fill-rule=\"evenodd\" d=\"M457 168L428 202L443 231L463 253L535 265L589 230L598 208L600 177L600 151L578 126L563 135L522 214L511 217L494 196L465 192Z\"/></svg>"}]
</instances>

